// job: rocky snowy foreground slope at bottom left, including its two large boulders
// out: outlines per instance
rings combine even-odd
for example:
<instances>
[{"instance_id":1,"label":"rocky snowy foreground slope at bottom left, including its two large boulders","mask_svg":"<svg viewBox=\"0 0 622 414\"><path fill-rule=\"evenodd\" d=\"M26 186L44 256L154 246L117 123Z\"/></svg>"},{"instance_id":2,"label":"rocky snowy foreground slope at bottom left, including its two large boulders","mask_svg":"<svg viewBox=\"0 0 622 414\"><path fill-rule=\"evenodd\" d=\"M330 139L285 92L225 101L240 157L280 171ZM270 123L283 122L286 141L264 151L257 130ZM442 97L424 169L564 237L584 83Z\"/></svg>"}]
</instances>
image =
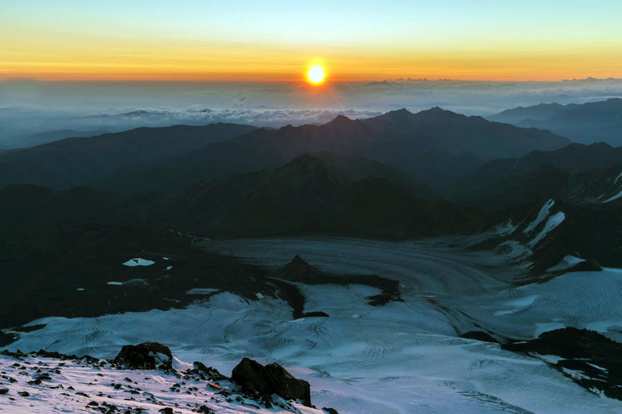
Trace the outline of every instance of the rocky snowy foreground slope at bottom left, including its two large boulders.
<instances>
[{"instance_id":1,"label":"rocky snowy foreground slope at bottom left, including its two large boulders","mask_svg":"<svg viewBox=\"0 0 622 414\"><path fill-rule=\"evenodd\" d=\"M232 378L185 364L167 346L128 345L114 360L0 353L0 411L10 413L336 414L311 404L308 382L278 364L243 359Z\"/></svg>"}]
</instances>

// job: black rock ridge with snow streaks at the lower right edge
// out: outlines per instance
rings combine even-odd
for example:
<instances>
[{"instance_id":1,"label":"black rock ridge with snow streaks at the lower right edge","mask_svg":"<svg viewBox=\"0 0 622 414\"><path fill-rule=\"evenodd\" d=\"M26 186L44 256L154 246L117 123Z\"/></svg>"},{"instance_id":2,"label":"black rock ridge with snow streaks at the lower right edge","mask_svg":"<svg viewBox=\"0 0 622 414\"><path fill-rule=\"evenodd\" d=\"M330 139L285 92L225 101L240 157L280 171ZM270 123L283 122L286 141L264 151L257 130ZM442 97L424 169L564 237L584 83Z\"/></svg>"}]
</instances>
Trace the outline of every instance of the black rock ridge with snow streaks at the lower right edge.
<instances>
[{"instance_id":1,"label":"black rock ridge with snow streaks at the lower right edge","mask_svg":"<svg viewBox=\"0 0 622 414\"><path fill-rule=\"evenodd\" d=\"M507 351L562 357L549 365L592 393L622 400L622 344L587 329L563 328L537 339L502 344ZM578 371L581 375L573 375Z\"/></svg>"}]
</instances>

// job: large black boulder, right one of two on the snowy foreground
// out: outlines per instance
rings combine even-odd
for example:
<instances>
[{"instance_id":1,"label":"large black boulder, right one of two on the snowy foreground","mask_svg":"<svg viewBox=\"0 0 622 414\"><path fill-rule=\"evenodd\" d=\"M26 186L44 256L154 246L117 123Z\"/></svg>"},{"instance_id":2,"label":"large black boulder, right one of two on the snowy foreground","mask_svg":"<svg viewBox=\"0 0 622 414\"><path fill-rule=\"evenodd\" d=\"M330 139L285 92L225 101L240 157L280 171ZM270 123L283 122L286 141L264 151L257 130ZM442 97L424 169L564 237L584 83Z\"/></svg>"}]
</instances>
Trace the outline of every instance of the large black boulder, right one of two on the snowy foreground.
<instances>
[{"instance_id":1,"label":"large black boulder, right one of two on the snowy foreground","mask_svg":"<svg viewBox=\"0 0 622 414\"><path fill-rule=\"evenodd\" d=\"M311 387L305 380L298 380L279 364L263 366L244 358L233 369L232 380L245 391L258 391L261 395L276 394L285 400L299 400L311 406Z\"/></svg>"}]
</instances>

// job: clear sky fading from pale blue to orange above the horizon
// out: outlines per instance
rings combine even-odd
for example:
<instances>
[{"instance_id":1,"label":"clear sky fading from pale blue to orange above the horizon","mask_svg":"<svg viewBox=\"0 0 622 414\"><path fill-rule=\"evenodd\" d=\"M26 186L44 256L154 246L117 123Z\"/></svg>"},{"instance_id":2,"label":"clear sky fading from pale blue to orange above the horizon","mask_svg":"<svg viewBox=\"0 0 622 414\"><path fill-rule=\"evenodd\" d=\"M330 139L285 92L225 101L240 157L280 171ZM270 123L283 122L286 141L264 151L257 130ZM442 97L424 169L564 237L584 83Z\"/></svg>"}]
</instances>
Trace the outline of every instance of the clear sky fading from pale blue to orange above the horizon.
<instances>
[{"instance_id":1,"label":"clear sky fading from pale blue to orange above the horizon","mask_svg":"<svg viewBox=\"0 0 622 414\"><path fill-rule=\"evenodd\" d=\"M0 80L622 77L618 0L0 3Z\"/></svg>"}]
</instances>

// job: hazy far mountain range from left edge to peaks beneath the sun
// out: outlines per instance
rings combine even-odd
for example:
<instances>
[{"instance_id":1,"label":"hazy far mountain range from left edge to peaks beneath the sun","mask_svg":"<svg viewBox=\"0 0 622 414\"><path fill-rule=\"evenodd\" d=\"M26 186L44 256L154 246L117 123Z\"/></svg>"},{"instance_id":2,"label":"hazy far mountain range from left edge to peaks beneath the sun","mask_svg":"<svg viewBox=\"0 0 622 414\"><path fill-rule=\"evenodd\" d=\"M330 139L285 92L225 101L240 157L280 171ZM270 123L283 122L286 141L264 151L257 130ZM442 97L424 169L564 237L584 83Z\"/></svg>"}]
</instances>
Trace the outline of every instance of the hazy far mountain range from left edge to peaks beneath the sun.
<instances>
[{"instance_id":1,"label":"hazy far mountain range from left edge to peaks beneath the sun","mask_svg":"<svg viewBox=\"0 0 622 414\"><path fill-rule=\"evenodd\" d=\"M397 110L361 120L338 116L321 126L278 130L234 124L138 128L3 152L0 186L89 185L131 193L174 192L189 183L276 167L299 155L328 151L379 161L434 187L491 159L567 144L568 139L551 132L440 108L417 114Z\"/></svg>"}]
</instances>

